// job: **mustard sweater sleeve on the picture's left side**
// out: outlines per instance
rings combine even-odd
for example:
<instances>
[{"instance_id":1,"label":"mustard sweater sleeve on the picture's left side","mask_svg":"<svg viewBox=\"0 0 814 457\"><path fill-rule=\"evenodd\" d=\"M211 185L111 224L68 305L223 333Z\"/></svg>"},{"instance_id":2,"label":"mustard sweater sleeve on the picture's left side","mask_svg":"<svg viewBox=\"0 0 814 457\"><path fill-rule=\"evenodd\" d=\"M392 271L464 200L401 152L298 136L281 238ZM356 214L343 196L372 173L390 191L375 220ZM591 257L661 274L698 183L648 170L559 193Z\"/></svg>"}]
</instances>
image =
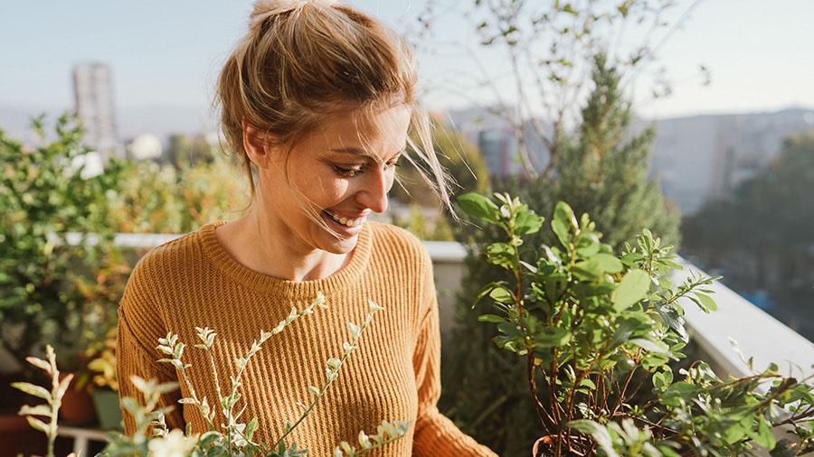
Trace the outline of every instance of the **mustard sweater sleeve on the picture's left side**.
<instances>
[{"instance_id":1,"label":"mustard sweater sleeve on the picture's left side","mask_svg":"<svg viewBox=\"0 0 814 457\"><path fill-rule=\"evenodd\" d=\"M118 377L119 399L126 396L134 398L139 405L144 405L144 395L130 380L138 376L145 380L156 379L158 383L177 382L175 370L168 364L158 363L163 354L156 350L158 338L166 337L166 325L151 303L141 264L136 266L128 281L124 296L118 306L118 338L116 340L116 373ZM172 412L165 416L169 429L184 430L184 416L179 410L180 391L175 390L161 396L157 408L173 406ZM136 421L126 409L124 415L125 433L136 433Z\"/></svg>"}]
</instances>

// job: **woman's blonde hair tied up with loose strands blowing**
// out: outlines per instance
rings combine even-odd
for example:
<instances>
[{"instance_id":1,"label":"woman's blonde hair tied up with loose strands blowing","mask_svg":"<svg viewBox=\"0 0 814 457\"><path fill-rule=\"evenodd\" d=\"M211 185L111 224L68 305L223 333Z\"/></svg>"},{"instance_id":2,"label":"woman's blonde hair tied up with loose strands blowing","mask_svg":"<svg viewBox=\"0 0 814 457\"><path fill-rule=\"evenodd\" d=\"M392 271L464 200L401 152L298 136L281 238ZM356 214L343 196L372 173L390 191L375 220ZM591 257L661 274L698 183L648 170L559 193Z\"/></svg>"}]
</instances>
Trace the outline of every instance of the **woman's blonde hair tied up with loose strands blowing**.
<instances>
[{"instance_id":1,"label":"woman's blonde hair tied up with loose strands blowing","mask_svg":"<svg viewBox=\"0 0 814 457\"><path fill-rule=\"evenodd\" d=\"M430 122L416 100L416 62L410 47L390 28L331 1L259 0L249 32L226 61L216 106L234 158L249 176L243 123L267 141L293 145L330 117L370 115L410 107L421 147L408 138L419 169L450 211L450 178L432 147Z\"/></svg>"}]
</instances>

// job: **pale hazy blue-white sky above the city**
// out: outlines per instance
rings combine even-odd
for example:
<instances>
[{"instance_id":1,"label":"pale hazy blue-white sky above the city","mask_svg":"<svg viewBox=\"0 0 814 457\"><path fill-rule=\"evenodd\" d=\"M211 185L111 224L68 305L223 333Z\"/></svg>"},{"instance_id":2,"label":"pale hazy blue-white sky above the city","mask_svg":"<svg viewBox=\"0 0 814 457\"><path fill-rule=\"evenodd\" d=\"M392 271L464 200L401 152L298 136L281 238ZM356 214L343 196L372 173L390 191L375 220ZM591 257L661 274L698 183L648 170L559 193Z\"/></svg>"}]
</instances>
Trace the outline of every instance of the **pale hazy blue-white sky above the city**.
<instances>
[{"instance_id":1,"label":"pale hazy blue-white sky above the city","mask_svg":"<svg viewBox=\"0 0 814 457\"><path fill-rule=\"evenodd\" d=\"M409 35L420 25L416 17L425 1L349 3ZM459 48L444 50L443 43L471 31L468 23L456 20L456 12L474 0L438 1L452 14L435 23L437 33L431 35L441 51L419 51L428 88L425 103L436 109L462 107L466 100L447 89L465 87L463 74L477 67ZM71 70L86 61L109 65L118 109L205 110L222 61L245 31L251 4L0 0L0 122L10 107L49 112L72 107ZM637 114L667 118L814 107L812 18L814 0L702 0L659 50L660 63L673 79L672 95L654 101L634 94ZM702 85L701 64L712 75L708 86ZM486 92L472 90L469 95L488 103Z\"/></svg>"}]
</instances>

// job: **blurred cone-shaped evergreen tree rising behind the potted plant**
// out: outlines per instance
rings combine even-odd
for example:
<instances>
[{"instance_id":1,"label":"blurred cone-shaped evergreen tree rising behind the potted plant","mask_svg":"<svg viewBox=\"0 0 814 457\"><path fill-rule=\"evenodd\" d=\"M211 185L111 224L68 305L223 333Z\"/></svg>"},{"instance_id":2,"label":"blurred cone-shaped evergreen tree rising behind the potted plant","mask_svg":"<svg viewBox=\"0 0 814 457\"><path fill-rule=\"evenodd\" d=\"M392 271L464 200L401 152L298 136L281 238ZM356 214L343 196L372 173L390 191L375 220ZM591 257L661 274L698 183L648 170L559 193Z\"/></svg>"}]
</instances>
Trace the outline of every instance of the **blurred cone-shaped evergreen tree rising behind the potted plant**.
<instances>
[{"instance_id":1,"label":"blurred cone-shaped evergreen tree rising behind the potted plant","mask_svg":"<svg viewBox=\"0 0 814 457\"><path fill-rule=\"evenodd\" d=\"M559 138L563 154L554 175L532 182L525 201L539 214L553 212L556 201L568 201L578 214L592 215L605 242L617 252L646 227L677 245L678 210L665 201L658 181L648 179L655 127L633 131L620 75L602 54L594 59L592 81L578 131ZM540 238L538 242L554 242L547 232Z\"/></svg>"}]
</instances>

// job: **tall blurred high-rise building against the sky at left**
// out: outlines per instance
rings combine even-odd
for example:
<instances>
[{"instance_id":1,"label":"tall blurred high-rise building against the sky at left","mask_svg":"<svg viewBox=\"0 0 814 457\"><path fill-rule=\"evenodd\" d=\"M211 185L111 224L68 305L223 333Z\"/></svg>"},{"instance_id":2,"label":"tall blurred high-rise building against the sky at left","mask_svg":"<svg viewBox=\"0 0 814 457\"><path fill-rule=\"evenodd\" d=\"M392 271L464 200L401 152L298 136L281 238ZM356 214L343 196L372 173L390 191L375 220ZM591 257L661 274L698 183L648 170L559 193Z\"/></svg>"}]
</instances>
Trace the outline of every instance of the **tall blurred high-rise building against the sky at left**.
<instances>
[{"instance_id":1,"label":"tall blurred high-rise building against the sky at left","mask_svg":"<svg viewBox=\"0 0 814 457\"><path fill-rule=\"evenodd\" d=\"M113 86L107 65L82 63L73 70L73 91L76 112L85 128L84 144L107 160L123 157L124 148L118 141Z\"/></svg>"}]
</instances>

